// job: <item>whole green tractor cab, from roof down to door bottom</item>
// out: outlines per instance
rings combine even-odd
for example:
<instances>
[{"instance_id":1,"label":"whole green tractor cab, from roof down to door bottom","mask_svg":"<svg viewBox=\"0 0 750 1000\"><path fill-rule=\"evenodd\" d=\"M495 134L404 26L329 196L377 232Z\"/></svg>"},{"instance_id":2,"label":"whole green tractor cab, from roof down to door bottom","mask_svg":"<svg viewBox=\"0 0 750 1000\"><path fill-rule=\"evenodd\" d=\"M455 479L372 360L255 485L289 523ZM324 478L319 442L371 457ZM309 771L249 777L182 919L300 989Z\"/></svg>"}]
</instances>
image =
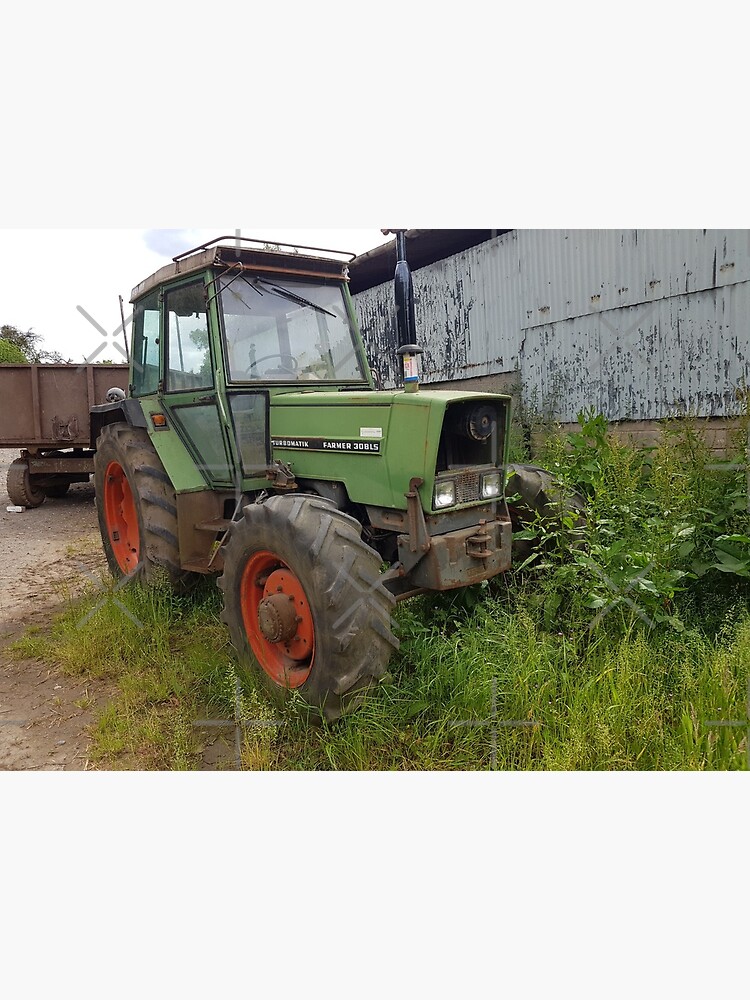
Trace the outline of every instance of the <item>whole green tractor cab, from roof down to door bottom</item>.
<instances>
[{"instance_id":1,"label":"whole green tractor cab, from roof down to door bottom","mask_svg":"<svg viewBox=\"0 0 750 1000\"><path fill-rule=\"evenodd\" d=\"M130 392L147 410L158 400L150 416L177 430L209 486L252 490L272 466L272 395L373 382L348 292L352 254L226 239L133 289Z\"/></svg>"}]
</instances>

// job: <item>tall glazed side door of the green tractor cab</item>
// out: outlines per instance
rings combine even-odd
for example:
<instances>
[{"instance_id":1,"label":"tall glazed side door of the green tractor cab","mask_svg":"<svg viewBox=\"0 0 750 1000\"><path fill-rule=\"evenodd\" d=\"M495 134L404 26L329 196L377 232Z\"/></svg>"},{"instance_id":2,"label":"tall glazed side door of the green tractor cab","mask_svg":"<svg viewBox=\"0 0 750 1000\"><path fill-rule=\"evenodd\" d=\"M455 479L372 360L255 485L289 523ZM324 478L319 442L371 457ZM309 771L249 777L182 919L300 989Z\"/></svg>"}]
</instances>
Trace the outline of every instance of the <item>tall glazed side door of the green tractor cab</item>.
<instances>
[{"instance_id":1,"label":"tall glazed side door of the green tractor cab","mask_svg":"<svg viewBox=\"0 0 750 1000\"><path fill-rule=\"evenodd\" d=\"M161 298L164 407L207 481L232 486L236 459L216 386L205 278L172 286Z\"/></svg>"}]
</instances>

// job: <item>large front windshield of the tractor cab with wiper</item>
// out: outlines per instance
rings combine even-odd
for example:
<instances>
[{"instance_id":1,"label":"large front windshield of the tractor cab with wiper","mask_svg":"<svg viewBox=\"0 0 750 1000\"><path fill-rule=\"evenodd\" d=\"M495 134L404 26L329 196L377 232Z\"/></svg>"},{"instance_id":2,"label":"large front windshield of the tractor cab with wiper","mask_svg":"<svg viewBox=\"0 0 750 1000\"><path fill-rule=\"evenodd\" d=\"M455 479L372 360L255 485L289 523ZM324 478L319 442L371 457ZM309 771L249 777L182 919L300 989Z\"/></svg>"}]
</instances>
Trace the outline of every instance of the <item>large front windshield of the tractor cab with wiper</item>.
<instances>
[{"instance_id":1,"label":"large front windshield of the tractor cab with wiper","mask_svg":"<svg viewBox=\"0 0 750 1000\"><path fill-rule=\"evenodd\" d=\"M365 382L340 284L219 278L232 382Z\"/></svg>"}]
</instances>

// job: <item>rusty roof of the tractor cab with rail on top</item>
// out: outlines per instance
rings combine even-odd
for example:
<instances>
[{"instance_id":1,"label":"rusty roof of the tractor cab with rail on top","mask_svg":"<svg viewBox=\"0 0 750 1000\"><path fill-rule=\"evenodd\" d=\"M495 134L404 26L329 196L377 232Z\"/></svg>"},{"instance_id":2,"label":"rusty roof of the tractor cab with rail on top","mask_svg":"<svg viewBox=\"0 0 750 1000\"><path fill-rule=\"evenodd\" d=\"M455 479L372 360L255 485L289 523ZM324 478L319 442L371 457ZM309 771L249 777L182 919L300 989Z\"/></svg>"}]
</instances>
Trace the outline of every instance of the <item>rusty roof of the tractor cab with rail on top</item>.
<instances>
[{"instance_id":1,"label":"rusty roof of the tractor cab with rail on top","mask_svg":"<svg viewBox=\"0 0 750 1000\"><path fill-rule=\"evenodd\" d=\"M234 237L220 236L219 240L235 239ZM211 243L216 243L212 240ZM254 240L243 240L243 242L259 242ZM285 244L283 244L285 245ZM314 254L306 251L315 251ZM305 251L305 252L303 252ZM319 256L319 254L337 256ZM346 259L341 260L341 257ZM155 288L166 285L177 278L189 277L207 270L209 267L217 270L228 271L230 269L263 271L271 274L286 274L299 277L312 278L334 278L339 281L349 280L349 263L354 259L354 254L349 254L342 250L322 250L317 247L299 247L289 250L267 249L263 245L262 249L255 247L241 247L236 241L233 246L211 246L203 244L195 250L188 250L172 260L150 277L144 279L136 285L130 296L131 302L136 302L143 298Z\"/></svg>"}]
</instances>

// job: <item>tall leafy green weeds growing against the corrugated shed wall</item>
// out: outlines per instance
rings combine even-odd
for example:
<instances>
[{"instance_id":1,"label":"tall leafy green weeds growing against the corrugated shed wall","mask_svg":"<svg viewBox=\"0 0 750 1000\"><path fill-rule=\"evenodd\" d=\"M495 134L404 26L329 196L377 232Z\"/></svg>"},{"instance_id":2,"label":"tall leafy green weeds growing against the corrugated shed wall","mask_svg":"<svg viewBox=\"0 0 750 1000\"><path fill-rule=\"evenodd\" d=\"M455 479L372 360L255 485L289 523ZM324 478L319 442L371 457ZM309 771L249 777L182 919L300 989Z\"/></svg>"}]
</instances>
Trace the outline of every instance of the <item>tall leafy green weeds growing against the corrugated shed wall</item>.
<instances>
[{"instance_id":1,"label":"tall leafy green weeds growing against the corrugated shed wall","mask_svg":"<svg viewBox=\"0 0 750 1000\"><path fill-rule=\"evenodd\" d=\"M540 459L586 496L583 544L564 518L522 533L540 543L522 571L531 571L545 624L591 628L608 616L629 627L635 616L682 631L688 595L734 592L750 578L744 456L718 468L691 420L667 424L659 446L645 450L614 438L601 415L578 423L549 438Z\"/></svg>"}]
</instances>

